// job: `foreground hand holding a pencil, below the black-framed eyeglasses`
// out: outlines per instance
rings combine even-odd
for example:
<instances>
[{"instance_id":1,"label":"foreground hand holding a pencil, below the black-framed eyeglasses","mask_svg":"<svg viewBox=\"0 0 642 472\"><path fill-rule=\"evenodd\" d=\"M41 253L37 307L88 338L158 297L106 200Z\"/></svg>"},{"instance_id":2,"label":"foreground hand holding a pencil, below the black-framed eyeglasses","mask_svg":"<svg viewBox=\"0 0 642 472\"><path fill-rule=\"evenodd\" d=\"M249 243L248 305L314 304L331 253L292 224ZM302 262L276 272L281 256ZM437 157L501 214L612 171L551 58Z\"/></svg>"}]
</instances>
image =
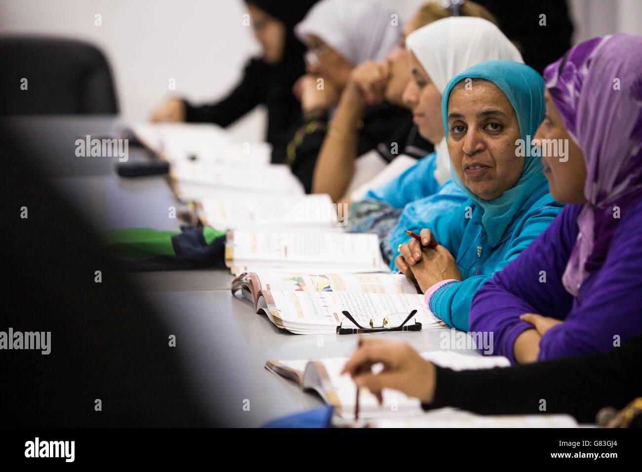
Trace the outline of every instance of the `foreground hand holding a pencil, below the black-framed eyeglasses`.
<instances>
[{"instance_id":1,"label":"foreground hand holding a pencil, below the black-framed eyeglasses","mask_svg":"<svg viewBox=\"0 0 642 472\"><path fill-rule=\"evenodd\" d=\"M383 370L372 373L372 366L383 363ZM360 337L360 347L345 363L343 373L349 373L358 387L367 387L381 405L383 389L394 389L408 396L431 403L435 396L437 369L424 360L408 344L376 338Z\"/></svg>"}]
</instances>

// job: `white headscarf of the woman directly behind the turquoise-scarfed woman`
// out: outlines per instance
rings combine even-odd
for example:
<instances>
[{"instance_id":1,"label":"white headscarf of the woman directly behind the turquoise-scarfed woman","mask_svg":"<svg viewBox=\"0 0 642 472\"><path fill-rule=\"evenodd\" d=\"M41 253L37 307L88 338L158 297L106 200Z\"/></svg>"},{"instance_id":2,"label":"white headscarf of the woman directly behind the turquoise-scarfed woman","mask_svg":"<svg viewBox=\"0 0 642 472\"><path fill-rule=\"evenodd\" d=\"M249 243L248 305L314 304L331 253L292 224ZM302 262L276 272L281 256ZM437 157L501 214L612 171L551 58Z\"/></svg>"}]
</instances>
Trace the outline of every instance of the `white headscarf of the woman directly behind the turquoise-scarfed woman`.
<instances>
[{"instance_id":1,"label":"white headscarf of the woman directly behind the turquoise-scarfed woman","mask_svg":"<svg viewBox=\"0 0 642 472\"><path fill-rule=\"evenodd\" d=\"M406 45L441 94L451 78L480 62L496 59L524 62L515 45L497 26L476 17L437 20L410 33ZM435 146L435 151L435 179L441 185L451 178L446 137Z\"/></svg>"}]
</instances>

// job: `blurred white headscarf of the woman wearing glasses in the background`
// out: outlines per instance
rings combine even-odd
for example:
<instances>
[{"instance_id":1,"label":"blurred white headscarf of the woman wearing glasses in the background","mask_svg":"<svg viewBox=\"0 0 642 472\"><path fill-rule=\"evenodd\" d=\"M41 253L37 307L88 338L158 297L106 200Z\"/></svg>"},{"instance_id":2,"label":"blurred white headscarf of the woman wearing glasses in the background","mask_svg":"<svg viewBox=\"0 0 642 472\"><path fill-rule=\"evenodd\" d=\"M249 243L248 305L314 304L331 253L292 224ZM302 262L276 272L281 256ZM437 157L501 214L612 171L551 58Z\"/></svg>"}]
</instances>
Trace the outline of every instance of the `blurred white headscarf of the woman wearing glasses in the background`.
<instances>
[{"instance_id":1,"label":"blurred white headscarf of the woman wearing glasses in the background","mask_svg":"<svg viewBox=\"0 0 642 472\"><path fill-rule=\"evenodd\" d=\"M352 66L383 60L401 38L401 24L377 0L321 0L294 28L301 42L316 35ZM395 17L396 18L396 17Z\"/></svg>"}]
</instances>

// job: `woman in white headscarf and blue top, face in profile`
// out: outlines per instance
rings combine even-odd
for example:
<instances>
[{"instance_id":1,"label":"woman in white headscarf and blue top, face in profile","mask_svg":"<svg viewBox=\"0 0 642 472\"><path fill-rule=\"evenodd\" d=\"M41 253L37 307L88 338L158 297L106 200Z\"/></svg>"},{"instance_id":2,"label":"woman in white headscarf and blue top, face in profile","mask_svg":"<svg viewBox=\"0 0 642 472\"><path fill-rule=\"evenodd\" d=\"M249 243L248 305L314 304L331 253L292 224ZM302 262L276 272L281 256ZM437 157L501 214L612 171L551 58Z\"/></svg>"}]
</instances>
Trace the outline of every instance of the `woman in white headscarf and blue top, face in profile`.
<instances>
[{"instance_id":1,"label":"woman in white headscarf and blue top, face in profile","mask_svg":"<svg viewBox=\"0 0 642 472\"><path fill-rule=\"evenodd\" d=\"M408 240L406 229L457 207L467 198L451 180L441 118L441 96L446 83L479 62L505 59L523 63L517 48L497 26L476 17L432 22L408 35L406 45L411 53L412 79L404 91L404 101L413 110L419 132L435 144L435 152L397 179L369 191L361 202L353 203L349 220L349 231L379 234L383 239L383 256L390 261L391 268L399 254L397 247ZM367 220L372 223L366 226L360 207L372 203L378 207L377 213L386 213L388 217L370 214Z\"/></svg>"}]
</instances>

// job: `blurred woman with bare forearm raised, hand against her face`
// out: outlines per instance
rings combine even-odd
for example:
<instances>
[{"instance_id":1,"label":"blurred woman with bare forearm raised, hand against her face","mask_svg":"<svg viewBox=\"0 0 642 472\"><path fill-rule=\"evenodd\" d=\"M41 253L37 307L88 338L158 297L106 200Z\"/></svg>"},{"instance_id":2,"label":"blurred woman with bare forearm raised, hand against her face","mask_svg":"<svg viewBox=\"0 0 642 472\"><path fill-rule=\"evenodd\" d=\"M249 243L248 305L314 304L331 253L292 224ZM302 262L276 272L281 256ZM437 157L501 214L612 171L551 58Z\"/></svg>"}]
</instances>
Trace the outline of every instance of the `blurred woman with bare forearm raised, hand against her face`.
<instances>
[{"instance_id":1,"label":"blurred woman with bare forearm raised, hand against her face","mask_svg":"<svg viewBox=\"0 0 642 472\"><path fill-rule=\"evenodd\" d=\"M352 69L343 89L340 105L333 116L332 126L339 130L357 130L367 105L376 105L382 101L408 109L410 105L403 100L403 91L410 80L406 37L426 24L453 14L480 17L495 23L492 15L474 2L456 5L456 9L444 8L443 2L424 3L415 15L404 23L399 44L388 53L385 60L368 60ZM437 110L436 114L440 112ZM412 166L415 163L413 159L424 157L424 151L433 150L433 143L425 141L426 137L417 133L412 119L390 123L389 126L397 130L399 139L394 141L397 146L393 149L382 146L379 152L385 156L385 161L394 162L390 162L375 179L351 192L354 194L351 195L353 199L360 200L369 189L385 184ZM399 159L402 155L404 158ZM357 175L361 168L356 167L356 157L358 154L354 140L333 139L332 135L328 136L317 160L313 193L327 193L335 202L341 198L342 203L347 203L348 198L342 197L347 197L346 192L354 187L353 177L354 180L361 179L361 175Z\"/></svg>"}]
</instances>

